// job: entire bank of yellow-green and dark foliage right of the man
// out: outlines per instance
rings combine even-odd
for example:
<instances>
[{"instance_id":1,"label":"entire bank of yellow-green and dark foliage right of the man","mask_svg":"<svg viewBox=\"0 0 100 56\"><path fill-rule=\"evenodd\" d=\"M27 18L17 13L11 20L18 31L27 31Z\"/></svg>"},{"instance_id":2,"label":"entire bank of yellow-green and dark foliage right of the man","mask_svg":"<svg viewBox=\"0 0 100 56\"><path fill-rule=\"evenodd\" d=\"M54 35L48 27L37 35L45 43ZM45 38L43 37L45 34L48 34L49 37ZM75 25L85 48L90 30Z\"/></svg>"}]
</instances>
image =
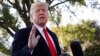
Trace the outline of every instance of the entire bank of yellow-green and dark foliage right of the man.
<instances>
[{"instance_id":1,"label":"entire bank of yellow-green and dark foliage right of the man","mask_svg":"<svg viewBox=\"0 0 100 56\"><path fill-rule=\"evenodd\" d=\"M100 55L100 26L95 21L83 21L80 24L68 24L52 30L57 34L63 51L69 51L70 41L81 43L85 56Z\"/></svg>"}]
</instances>

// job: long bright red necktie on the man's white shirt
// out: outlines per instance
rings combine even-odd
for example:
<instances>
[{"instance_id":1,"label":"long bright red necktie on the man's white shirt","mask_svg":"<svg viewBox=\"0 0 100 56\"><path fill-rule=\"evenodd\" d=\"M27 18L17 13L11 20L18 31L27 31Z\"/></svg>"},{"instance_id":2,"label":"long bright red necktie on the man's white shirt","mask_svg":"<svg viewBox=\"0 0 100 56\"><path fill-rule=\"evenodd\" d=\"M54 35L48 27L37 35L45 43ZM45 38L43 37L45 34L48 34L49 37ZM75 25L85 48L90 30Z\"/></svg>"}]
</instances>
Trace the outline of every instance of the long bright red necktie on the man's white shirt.
<instances>
[{"instance_id":1,"label":"long bright red necktie on the man's white shirt","mask_svg":"<svg viewBox=\"0 0 100 56\"><path fill-rule=\"evenodd\" d=\"M50 40L50 37L49 37L49 35L47 33L47 30L46 29L43 29L43 33L44 33L44 35L46 37L46 40L47 40L47 43L48 43L48 47L49 47L51 56L57 56L56 50L55 50L55 48L53 46L53 43Z\"/></svg>"}]
</instances>

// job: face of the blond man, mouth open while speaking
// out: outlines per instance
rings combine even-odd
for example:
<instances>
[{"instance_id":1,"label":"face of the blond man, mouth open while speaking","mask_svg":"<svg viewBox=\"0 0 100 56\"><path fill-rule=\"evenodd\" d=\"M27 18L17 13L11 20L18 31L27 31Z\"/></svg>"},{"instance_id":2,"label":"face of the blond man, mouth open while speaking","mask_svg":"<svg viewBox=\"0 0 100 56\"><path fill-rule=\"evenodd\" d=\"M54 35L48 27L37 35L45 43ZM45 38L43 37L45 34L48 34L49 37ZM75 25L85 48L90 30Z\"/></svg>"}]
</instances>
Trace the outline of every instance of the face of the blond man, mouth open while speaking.
<instances>
[{"instance_id":1,"label":"face of the blond man, mouth open while speaking","mask_svg":"<svg viewBox=\"0 0 100 56\"><path fill-rule=\"evenodd\" d=\"M48 9L43 5L37 5L33 11L33 20L39 26L44 26L48 19Z\"/></svg>"}]
</instances>

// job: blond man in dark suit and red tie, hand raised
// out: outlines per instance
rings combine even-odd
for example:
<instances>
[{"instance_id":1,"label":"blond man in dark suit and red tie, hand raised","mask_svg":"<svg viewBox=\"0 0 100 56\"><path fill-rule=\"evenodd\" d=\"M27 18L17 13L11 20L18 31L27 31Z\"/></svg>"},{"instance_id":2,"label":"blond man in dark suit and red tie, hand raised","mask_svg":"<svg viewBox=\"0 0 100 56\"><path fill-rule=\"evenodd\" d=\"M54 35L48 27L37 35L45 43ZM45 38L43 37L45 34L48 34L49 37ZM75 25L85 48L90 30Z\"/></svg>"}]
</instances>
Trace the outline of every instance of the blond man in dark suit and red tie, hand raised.
<instances>
[{"instance_id":1,"label":"blond man in dark suit and red tie, hand raised","mask_svg":"<svg viewBox=\"0 0 100 56\"><path fill-rule=\"evenodd\" d=\"M61 49L55 33L46 27L48 4L33 3L30 8L30 27L15 33L12 56L59 56Z\"/></svg>"}]
</instances>

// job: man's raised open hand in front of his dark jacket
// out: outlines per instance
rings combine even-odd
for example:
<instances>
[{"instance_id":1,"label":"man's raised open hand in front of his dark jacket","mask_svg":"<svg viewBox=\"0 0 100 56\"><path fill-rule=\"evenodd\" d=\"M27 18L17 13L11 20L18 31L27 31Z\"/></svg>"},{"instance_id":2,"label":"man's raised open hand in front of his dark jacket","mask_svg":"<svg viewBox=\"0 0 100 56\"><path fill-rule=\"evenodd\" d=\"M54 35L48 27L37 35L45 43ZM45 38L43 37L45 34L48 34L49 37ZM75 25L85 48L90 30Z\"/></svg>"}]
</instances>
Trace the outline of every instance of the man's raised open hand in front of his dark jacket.
<instances>
[{"instance_id":1,"label":"man's raised open hand in front of his dark jacket","mask_svg":"<svg viewBox=\"0 0 100 56\"><path fill-rule=\"evenodd\" d=\"M40 39L40 36L39 35L35 36L35 33L36 33L36 27L33 25L28 39L28 47L30 49L34 49L34 47L37 45Z\"/></svg>"}]
</instances>

